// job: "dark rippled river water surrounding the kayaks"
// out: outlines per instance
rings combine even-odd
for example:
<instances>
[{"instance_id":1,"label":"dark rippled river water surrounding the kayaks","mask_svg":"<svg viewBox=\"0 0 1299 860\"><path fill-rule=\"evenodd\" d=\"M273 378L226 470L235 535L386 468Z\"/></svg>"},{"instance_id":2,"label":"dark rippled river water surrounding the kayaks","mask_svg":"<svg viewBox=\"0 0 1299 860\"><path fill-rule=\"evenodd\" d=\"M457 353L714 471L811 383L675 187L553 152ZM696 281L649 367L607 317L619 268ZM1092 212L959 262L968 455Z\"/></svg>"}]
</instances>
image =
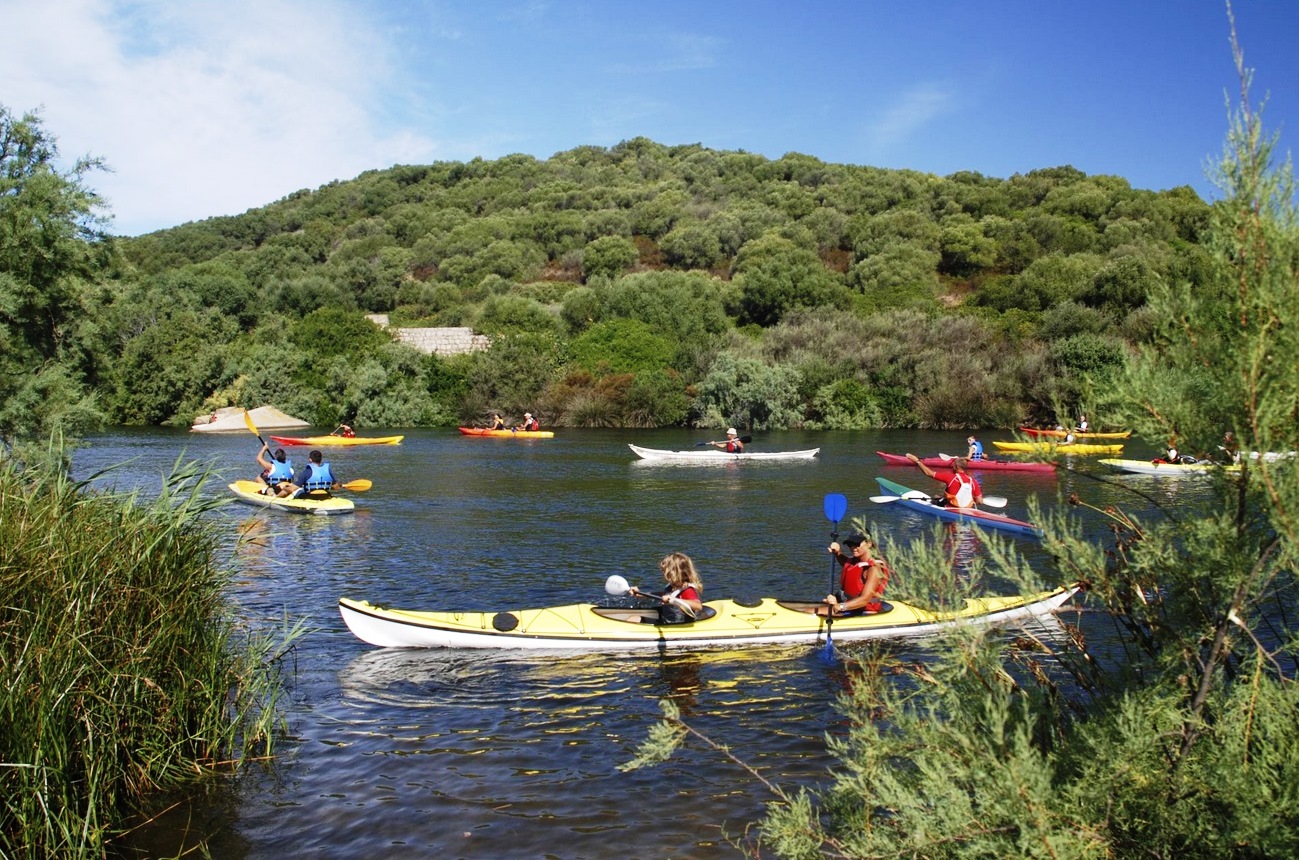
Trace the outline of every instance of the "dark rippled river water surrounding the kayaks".
<instances>
[{"instance_id":1,"label":"dark rippled river water surrounding the kayaks","mask_svg":"<svg viewBox=\"0 0 1299 860\"><path fill-rule=\"evenodd\" d=\"M366 435L401 433L368 429ZM265 435L265 431L264 431ZM655 586L669 551L694 556L705 598L820 598L830 566L822 498L883 538L933 530L920 514L874 505L876 475L933 488L876 451L960 453L964 433L772 433L755 451L820 447L814 461L655 465L627 443L690 448L705 431L566 430L555 439L407 431L395 447L330 453L342 481L370 478L343 517L292 517L230 505L234 599L251 622L305 618L292 655L290 727L278 765L252 770L230 796L177 811L168 828L210 838L217 857L717 857L772 800L740 768L700 744L634 773L618 765L674 698L691 725L785 786L818 786L833 764L826 733L844 730L835 696L853 668L820 648L620 656L391 651L364 644L339 618L342 595L429 609L501 609L599 600L613 573ZM1005 433L981 434L990 440ZM177 459L226 481L252 477L248 433L117 430L74 457L78 477L156 492ZM1129 444L1126 456L1151 456ZM297 453L297 459L303 459ZM1148 478L1100 485L1077 457L1059 475L989 473L985 491L1026 516L1037 494L1133 499L1122 487L1182 501L1194 490ZM223 494L222 482L210 486ZM1100 524L1089 524L1102 537ZM840 524L846 533L848 524ZM978 551L977 533L963 533ZM1031 540L1024 542L1033 552ZM1038 553L1038 561L1046 559ZM894 559L895 568L898 560ZM899 644L922 657L920 644ZM840 646L839 655L852 646ZM175 848L171 847L171 852Z\"/></svg>"}]
</instances>

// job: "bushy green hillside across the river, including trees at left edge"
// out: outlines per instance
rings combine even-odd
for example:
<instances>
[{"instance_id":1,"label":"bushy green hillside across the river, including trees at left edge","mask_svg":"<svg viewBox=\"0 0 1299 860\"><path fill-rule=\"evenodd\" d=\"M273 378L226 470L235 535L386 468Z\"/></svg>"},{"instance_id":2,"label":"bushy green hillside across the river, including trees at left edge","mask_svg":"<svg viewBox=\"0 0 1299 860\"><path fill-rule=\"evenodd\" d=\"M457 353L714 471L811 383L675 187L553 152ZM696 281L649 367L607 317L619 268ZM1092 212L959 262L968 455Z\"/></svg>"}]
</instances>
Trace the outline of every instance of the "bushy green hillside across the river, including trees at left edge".
<instances>
[{"instance_id":1,"label":"bushy green hillside across the river, including trees at left edge","mask_svg":"<svg viewBox=\"0 0 1299 860\"><path fill-rule=\"evenodd\" d=\"M4 130L52 149L39 117ZM1161 323L1150 297L1208 278L1194 191L1069 166L938 177L638 138L113 238L94 162L60 177L21 152L40 148L5 156L0 207L57 204L70 227L53 265L49 236L0 242L6 435L264 403L318 426L1095 424ZM366 314L491 347L423 355Z\"/></svg>"}]
</instances>

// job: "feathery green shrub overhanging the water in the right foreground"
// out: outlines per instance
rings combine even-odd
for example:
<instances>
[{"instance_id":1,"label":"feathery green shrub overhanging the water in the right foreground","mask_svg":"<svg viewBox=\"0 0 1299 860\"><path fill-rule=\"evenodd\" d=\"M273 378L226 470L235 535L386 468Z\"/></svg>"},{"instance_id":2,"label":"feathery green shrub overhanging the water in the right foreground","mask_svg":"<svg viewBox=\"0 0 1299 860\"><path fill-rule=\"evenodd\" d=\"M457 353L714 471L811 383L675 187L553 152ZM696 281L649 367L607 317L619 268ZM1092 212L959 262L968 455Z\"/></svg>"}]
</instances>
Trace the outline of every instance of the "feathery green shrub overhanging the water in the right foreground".
<instances>
[{"instance_id":1,"label":"feathery green shrub overhanging the water in the right foreground","mask_svg":"<svg viewBox=\"0 0 1299 860\"><path fill-rule=\"evenodd\" d=\"M1244 451L1295 451L1299 199L1237 60L1242 100L1202 239L1207 277L1151 291L1160 323L1129 361L1113 414L1183 447L1213 449L1231 430ZM1100 609L1090 624L1013 642L969 633L922 666L869 650L840 698L851 730L829 738L831 783L821 794L769 786L777 800L759 842L742 847L781 857L1299 854L1299 464L1242 465L1213 478L1203 509L1170 500L1151 521L1099 511L1104 546L1066 514L1046 521L1055 575L1085 582ZM1070 501L1087 505L1085 485ZM899 568L890 594L961 598L991 577L1044 585L1005 542L981 543L990 552L963 583L929 543L886 547ZM1087 629L1105 635L1089 640ZM698 740L687 729L668 707L639 760Z\"/></svg>"}]
</instances>

